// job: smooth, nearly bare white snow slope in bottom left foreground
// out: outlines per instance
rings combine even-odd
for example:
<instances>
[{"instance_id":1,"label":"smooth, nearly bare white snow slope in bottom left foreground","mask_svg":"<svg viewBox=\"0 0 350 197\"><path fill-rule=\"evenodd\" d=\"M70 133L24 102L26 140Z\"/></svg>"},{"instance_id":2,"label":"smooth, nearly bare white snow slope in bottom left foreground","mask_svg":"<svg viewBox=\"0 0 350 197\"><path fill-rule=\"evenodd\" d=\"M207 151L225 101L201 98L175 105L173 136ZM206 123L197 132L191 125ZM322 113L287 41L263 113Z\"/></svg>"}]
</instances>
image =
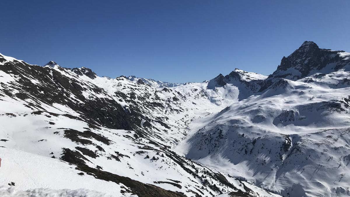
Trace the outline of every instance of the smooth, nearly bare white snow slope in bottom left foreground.
<instances>
[{"instance_id":1,"label":"smooth, nearly bare white snow slope in bottom left foreground","mask_svg":"<svg viewBox=\"0 0 350 197\"><path fill-rule=\"evenodd\" d=\"M73 165L57 159L5 147L0 147L0 152L3 158L0 182L6 184L0 186L0 196L35 196L44 193L57 196L122 196L120 191L128 189L123 184L85 175ZM124 195L130 196L130 193Z\"/></svg>"}]
</instances>

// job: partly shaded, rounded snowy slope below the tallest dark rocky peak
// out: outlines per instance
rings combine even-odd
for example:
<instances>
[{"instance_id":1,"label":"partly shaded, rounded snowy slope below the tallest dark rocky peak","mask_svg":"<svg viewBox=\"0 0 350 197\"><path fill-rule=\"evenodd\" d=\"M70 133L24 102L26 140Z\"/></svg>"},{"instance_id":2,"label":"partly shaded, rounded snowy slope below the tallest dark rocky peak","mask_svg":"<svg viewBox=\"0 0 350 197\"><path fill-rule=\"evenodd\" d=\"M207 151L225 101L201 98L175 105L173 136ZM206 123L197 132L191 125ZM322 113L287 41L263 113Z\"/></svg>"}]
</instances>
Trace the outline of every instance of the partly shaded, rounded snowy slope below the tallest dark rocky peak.
<instances>
[{"instance_id":1,"label":"partly shaded, rounded snowy slope below the tallest dark rocky peak","mask_svg":"<svg viewBox=\"0 0 350 197\"><path fill-rule=\"evenodd\" d=\"M176 152L283 196L349 196L350 72L341 65L296 81L277 70L262 91L191 122Z\"/></svg>"}]
</instances>

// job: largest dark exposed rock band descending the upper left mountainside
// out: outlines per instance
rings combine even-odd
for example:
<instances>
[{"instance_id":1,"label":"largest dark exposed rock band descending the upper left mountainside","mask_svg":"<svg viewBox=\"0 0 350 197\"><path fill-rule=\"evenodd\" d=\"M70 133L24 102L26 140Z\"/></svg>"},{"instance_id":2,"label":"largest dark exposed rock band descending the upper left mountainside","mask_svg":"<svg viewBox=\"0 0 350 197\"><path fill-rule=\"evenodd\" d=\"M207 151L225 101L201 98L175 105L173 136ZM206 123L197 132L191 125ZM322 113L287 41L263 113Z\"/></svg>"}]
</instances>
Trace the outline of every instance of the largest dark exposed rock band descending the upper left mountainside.
<instances>
[{"instance_id":1,"label":"largest dark exposed rock band descending the upper left mountainside","mask_svg":"<svg viewBox=\"0 0 350 197\"><path fill-rule=\"evenodd\" d=\"M65 72L64 68L58 67L57 69L61 70L61 72ZM135 118L140 115L135 111L126 113L123 107L121 107L117 101L112 99L85 99L82 94L84 88L80 82L74 78L66 77L55 69L15 61L5 63L5 65L0 67L0 70L18 77L18 84L13 86L13 88L21 90L20 93L15 95L18 99L25 100L28 99L28 95L30 95L31 97L34 97L37 102L47 103L49 105L52 103L63 104L74 111L81 113L82 116L80 116L80 118L83 118L85 121L90 122L89 120L94 120L97 121L98 124L104 125L108 128L137 130L138 127L135 125L140 125L140 119ZM73 72L88 75L89 77L93 77L95 75L90 69L84 67L80 69L75 68L72 70ZM28 76L36 79L42 84L45 84L45 86L32 83ZM94 85L92 85L91 90L98 94L102 94L104 91L103 89ZM10 97L14 96L9 91L5 91L5 94ZM67 100L67 94L73 94L80 101L84 101L84 103L79 104L76 102L69 102L69 100ZM36 109L33 114L40 115L43 113L43 109L39 104L34 102L30 103L30 105L31 106L28 107ZM107 109L101 110L103 108ZM73 118L73 116L71 117Z\"/></svg>"}]
</instances>

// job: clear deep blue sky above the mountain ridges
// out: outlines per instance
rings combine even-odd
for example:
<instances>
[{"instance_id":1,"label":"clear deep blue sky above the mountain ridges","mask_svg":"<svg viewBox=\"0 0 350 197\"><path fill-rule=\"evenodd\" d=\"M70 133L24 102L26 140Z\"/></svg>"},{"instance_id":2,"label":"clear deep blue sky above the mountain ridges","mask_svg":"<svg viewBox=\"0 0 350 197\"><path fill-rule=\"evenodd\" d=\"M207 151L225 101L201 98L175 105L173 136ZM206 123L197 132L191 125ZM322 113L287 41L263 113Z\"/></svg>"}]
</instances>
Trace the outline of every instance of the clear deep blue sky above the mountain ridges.
<instances>
[{"instance_id":1,"label":"clear deep blue sky above the mountain ridges","mask_svg":"<svg viewBox=\"0 0 350 197\"><path fill-rule=\"evenodd\" d=\"M350 1L12 1L0 53L169 82L271 74L303 41L350 52Z\"/></svg>"}]
</instances>

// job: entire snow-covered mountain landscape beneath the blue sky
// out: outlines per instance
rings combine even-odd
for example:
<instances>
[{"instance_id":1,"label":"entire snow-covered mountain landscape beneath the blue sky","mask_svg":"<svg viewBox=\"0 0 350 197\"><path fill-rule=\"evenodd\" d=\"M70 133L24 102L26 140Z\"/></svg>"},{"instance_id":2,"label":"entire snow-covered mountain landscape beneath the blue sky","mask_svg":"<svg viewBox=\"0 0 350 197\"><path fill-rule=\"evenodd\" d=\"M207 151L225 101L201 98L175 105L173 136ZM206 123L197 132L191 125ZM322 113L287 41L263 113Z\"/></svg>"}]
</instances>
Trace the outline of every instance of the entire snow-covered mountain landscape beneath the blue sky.
<instances>
[{"instance_id":1,"label":"entire snow-covered mountain landscape beneath the blue sky","mask_svg":"<svg viewBox=\"0 0 350 197\"><path fill-rule=\"evenodd\" d=\"M0 54L0 195L349 196L349 66L306 41L170 84Z\"/></svg>"}]
</instances>

